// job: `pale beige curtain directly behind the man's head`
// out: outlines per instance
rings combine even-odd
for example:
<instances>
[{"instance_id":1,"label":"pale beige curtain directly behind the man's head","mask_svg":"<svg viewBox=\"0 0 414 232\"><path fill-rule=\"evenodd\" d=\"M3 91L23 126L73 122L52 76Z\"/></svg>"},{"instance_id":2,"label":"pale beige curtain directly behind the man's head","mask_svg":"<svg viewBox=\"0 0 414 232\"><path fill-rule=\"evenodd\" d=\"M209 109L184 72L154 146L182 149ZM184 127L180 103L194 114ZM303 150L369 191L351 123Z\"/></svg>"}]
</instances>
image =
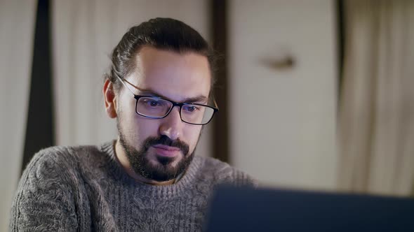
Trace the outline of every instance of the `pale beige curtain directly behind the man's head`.
<instances>
[{"instance_id":1,"label":"pale beige curtain directly behind the man's head","mask_svg":"<svg viewBox=\"0 0 414 232\"><path fill-rule=\"evenodd\" d=\"M208 1L53 1L53 83L56 143L99 144L116 138L104 110L102 74L110 53L129 27L152 17L174 17L208 38ZM209 155L209 129L198 154Z\"/></svg>"}]
</instances>

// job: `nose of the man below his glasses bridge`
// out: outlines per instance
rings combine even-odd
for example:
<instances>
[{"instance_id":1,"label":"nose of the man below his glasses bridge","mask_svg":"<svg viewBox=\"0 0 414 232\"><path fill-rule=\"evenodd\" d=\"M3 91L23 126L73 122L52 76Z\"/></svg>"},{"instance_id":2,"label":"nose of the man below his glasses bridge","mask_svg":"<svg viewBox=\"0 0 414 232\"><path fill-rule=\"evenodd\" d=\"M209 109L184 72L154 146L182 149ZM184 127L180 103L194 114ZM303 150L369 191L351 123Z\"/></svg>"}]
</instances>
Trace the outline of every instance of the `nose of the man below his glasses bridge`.
<instances>
[{"instance_id":1,"label":"nose of the man below his glasses bridge","mask_svg":"<svg viewBox=\"0 0 414 232\"><path fill-rule=\"evenodd\" d=\"M182 136L182 126L184 126L185 122L181 121L180 107L175 106L167 117L161 120L162 122L159 126L161 136L168 136L171 140L176 140Z\"/></svg>"}]
</instances>

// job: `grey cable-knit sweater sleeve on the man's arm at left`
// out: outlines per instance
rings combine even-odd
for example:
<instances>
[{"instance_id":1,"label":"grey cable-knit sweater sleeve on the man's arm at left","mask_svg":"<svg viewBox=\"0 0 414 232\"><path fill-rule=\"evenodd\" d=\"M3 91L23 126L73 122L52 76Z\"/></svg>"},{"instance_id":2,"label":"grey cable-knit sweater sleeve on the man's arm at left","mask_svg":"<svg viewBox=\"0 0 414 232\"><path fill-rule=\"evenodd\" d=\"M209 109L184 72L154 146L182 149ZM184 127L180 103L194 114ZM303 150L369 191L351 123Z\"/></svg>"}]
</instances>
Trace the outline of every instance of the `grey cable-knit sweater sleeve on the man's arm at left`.
<instances>
[{"instance_id":1,"label":"grey cable-knit sweater sleeve on the man's arm at left","mask_svg":"<svg viewBox=\"0 0 414 232\"><path fill-rule=\"evenodd\" d=\"M49 148L30 161L13 200L11 231L76 231L72 177L62 153Z\"/></svg>"}]
</instances>

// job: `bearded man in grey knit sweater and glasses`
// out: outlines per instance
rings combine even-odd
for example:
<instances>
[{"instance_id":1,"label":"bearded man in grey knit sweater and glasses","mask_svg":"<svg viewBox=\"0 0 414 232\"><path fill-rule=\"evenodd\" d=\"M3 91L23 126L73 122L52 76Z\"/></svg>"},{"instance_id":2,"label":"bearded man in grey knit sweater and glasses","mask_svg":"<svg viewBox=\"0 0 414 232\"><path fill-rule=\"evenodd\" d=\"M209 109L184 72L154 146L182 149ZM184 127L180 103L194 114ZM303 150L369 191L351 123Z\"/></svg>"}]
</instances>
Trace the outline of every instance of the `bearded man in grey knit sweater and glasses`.
<instances>
[{"instance_id":1,"label":"bearded man in grey knit sweater and glasses","mask_svg":"<svg viewBox=\"0 0 414 232\"><path fill-rule=\"evenodd\" d=\"M105 74L107 115L119 137L50 147L22 175L12 231L200 231L217 184L253 184L194 156L211 101L213 56L191 27L156 18L131 28Z\"/></svg>"}]
</instances>

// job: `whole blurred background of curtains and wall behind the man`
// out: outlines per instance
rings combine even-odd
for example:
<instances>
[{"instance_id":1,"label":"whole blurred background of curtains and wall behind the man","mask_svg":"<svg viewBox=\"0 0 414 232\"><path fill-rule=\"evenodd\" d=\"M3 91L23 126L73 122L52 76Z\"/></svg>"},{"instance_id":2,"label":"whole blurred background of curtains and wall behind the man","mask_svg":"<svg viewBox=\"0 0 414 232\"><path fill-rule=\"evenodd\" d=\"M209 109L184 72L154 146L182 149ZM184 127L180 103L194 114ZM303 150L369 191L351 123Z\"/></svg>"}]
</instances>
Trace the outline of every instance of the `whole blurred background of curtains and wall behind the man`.
<instances>
[{"instance_id":1,"label":"whole blurred background of curtains and wall behind the man","mask_svg":"<svg viewBox=\"0 0 414 232\"><path fill-rule=\"evenodd\" d=\"M223 57L197 154L266 186L413 195L414 1L0 0L0 231L35 152L116 138L102 73L153 17Z\"/></svg>"}]
</instances>

